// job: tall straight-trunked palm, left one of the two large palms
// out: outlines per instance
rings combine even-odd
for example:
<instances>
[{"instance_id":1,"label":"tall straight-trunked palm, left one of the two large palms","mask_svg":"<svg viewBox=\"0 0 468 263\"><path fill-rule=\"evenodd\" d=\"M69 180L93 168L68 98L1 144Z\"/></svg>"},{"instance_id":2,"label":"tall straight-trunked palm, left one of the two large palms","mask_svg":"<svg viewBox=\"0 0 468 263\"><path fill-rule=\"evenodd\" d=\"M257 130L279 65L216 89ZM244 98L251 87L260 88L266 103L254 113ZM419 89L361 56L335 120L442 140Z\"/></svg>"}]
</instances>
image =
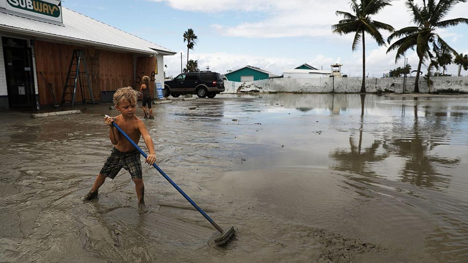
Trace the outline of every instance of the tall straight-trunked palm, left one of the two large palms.
<instances>
[{"instance_id":1,"label":"tall straight-trunked palm, left one of the two large palms","mask_svg":"<svg viewBox=\"0 0 468 263\"><path fill-rule=\"evenodd\" d=\"M340 20L337 24L332 25L333 33L339 35L346 35L349 33L354 34L354 40L352 43L352 51L357 50L357 45L362 39L362 85L361 92L366 92L366 42L365 33L369 34L377 44L384 45L385 40L379 32L379 29L388 30L393 32L395 29L385 23L374 21L371 19L371 15L376 15L384 7L390 6L390 0L351 0L351 9L354 15L336 11L336 15L342 15L343 20Z\"/></svg>"}]
</instances>

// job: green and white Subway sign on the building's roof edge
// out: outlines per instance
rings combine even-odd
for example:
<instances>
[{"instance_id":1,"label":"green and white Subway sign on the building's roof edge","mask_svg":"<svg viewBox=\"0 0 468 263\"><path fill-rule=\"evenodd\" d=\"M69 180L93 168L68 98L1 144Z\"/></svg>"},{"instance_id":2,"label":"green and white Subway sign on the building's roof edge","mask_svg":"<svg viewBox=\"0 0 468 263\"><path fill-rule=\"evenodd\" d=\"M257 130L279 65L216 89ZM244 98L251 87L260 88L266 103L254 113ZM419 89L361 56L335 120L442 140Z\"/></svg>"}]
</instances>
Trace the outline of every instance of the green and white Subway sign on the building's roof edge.
<instances>
[{"instance_id":1,"label":"green and white Subway sign on the building's roof edge","mask_svg":"<svg viewBox=\"0 0 468 263\"><path fill-rule=\"evenodd\" d=\"M17 13L62 22L62 5L59 0L0 0L0 7Z\"/></svg>"}]
</instances>

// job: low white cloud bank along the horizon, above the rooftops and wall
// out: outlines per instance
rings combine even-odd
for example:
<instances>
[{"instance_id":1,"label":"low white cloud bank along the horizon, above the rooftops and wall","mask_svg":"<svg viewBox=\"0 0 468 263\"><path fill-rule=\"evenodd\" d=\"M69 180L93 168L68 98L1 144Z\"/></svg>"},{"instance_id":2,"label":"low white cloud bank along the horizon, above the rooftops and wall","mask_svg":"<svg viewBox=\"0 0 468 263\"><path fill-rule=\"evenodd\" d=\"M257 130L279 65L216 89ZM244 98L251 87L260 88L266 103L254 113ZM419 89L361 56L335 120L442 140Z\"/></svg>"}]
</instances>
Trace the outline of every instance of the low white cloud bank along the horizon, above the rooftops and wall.
<instances>
[{"instance_id":1,"label":"low white cloud bank along the horizon, above the rooftops and wall","mask_svg":"<svg viewBox=\"0 0 468 263\"><path fill-rule=\"evenodd\" d=\"M383 73L388 73L388 71L392 69L404 66L403 58L395 63L395 51L387 54L387 48L384 46L369 50L366 53L366 75L369 77L381 77ZM462 53L468 54L468 50ZM186 56L187 54L183 52L183 66L185 66ZM412 70L417 70L419 58L417 57L416 51L410 50L406 54L406 58L408 58L408 64L411 66ZM281 75L285 70L293 69L303 63L317 68L322 67L323 70L329 70L331 64L340 63L344 65L342 67L342 72L344 74L350 77L362 76L362 52L355 52L352 54L351 58L348 59L343 59L341 57L331 58L319 54L307 61L292 58L272 58L229 53L193 52L190 53L190 59L198 60L198 68L200 70L206 70L206 66L210 66L211 71L221 74L227 73L227 70L235 70L247 65L256 66ZM164 63L168 66L166 75L175 77L181 72L180 51L175 56L164 57ZM421 71L423 75L427 72L427 67L424 64L421 66ZM442 71L442 69L440 71ZM456 75L457 72L457 65L451 64L447 66L446 73ZM413 76L414 74L415 73L413 73ZM464 71L462 71L462 74L466 75L466 72L464 73Z\"/></svg>"}]
</instances>

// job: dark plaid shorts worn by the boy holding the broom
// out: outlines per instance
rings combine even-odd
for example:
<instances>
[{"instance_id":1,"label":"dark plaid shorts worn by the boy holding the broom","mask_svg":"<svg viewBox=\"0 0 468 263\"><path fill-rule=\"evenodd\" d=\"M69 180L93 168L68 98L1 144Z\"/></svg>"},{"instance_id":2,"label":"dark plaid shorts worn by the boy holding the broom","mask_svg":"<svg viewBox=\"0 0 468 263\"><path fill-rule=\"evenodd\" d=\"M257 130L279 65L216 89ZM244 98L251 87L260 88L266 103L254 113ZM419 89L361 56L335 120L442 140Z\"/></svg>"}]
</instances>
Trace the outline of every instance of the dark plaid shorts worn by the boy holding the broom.
<instances>
[{"instance_id":1,"label":"dark plaid shorts worn by the boy holding the broom","mask_svg":"<svg viewBox=\"0 0 468 263\"><path fill-rule=\"evenodd\" d=\"M110 179L114 179L122 168L132 175L132 179L143 178L140 153L137 149L124 153L117 150L115 147L112 148L112 151L102 166L100 173Z\"/></svg>"}]
</instances>

